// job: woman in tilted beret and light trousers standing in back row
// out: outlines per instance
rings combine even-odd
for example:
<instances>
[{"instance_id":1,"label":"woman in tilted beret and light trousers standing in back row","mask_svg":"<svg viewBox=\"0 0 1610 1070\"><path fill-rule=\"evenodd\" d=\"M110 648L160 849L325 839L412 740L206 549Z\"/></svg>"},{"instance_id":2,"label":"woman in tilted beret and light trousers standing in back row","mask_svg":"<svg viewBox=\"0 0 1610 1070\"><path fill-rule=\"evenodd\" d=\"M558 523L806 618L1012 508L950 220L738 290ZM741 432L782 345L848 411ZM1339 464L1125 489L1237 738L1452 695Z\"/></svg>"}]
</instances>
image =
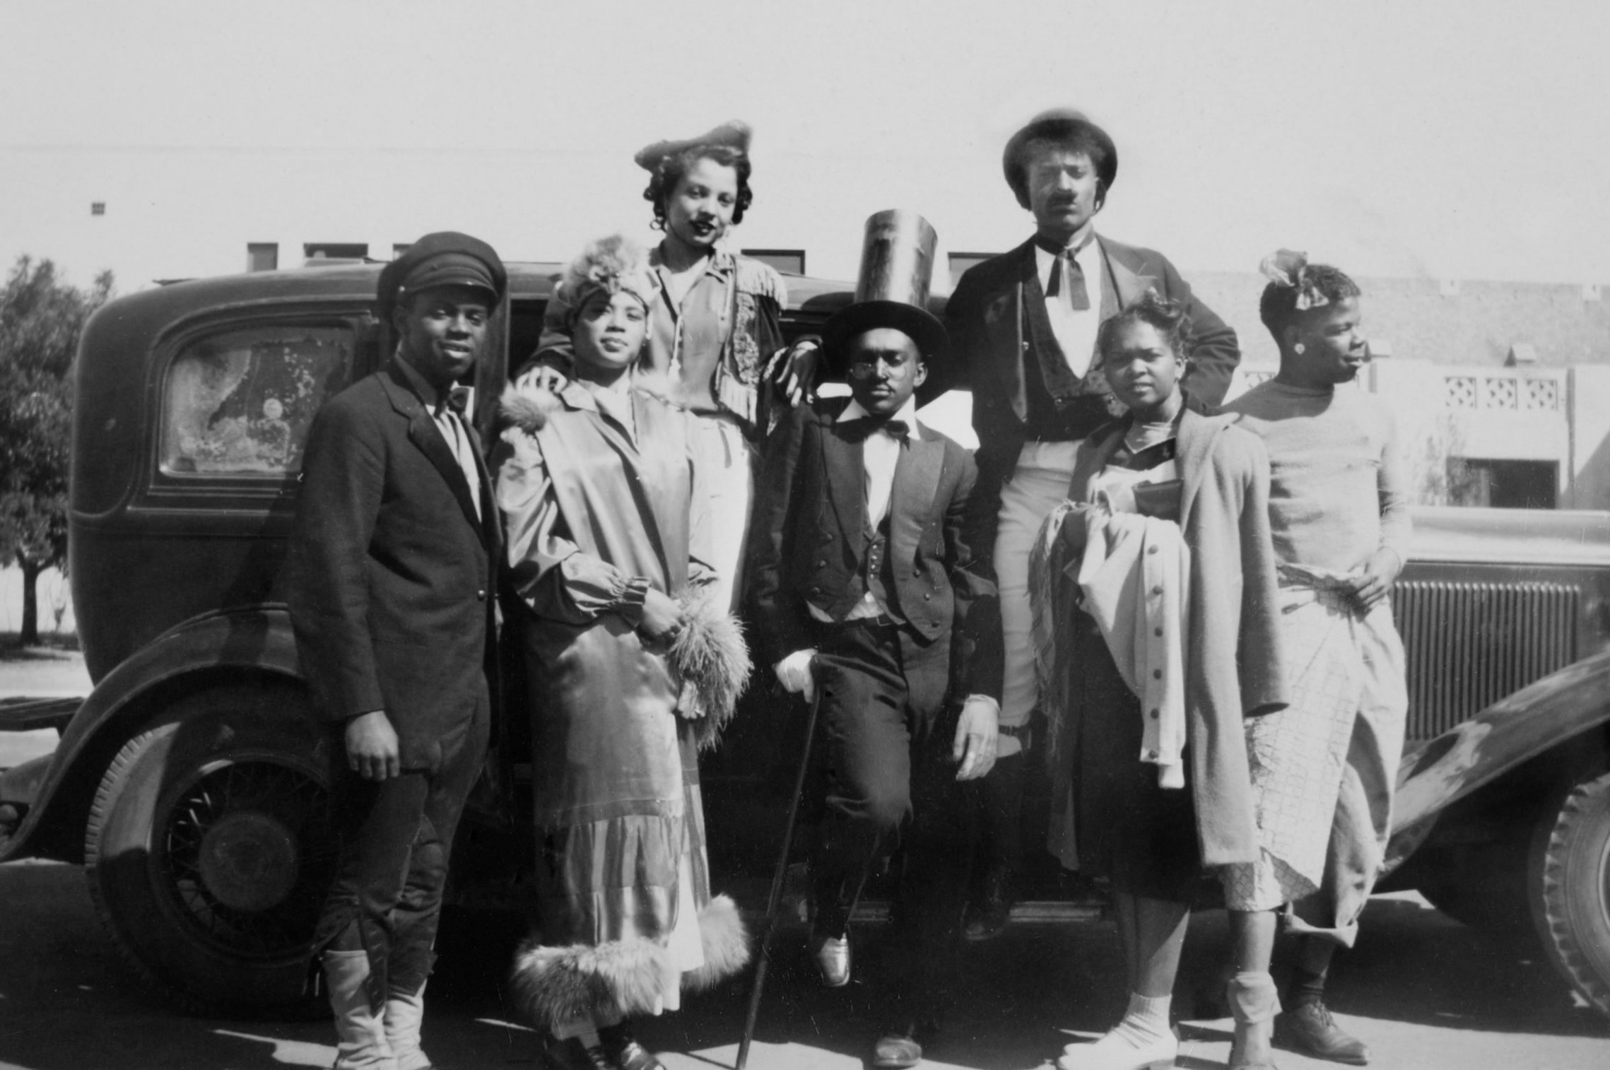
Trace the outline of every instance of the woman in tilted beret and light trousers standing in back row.
<instances>
[{"instance_id":1,"label":"woman in tilted beret and light trousers standing in back row","mask_svg":"<svg viewBox=\"0 0 1610 1070\"><path fill-rule=\"evenodd\" d=\"M797 404L811 391L818 362L815 340L784 349L781 275L721 245L753 198L749 140L749 126L733 121L699 137L655 142L634 158L650 175L644 200L654 204L654 227L665 232L649 253L649 343L638 375L663 377L665 394L696 417L720 528L710 563L716 597L728 607L737 603L749 528L750 451L776 422L774 402ZM535 362L570 375L565 315L562 298L549 302Z\"/></svg>"}]
</instances>

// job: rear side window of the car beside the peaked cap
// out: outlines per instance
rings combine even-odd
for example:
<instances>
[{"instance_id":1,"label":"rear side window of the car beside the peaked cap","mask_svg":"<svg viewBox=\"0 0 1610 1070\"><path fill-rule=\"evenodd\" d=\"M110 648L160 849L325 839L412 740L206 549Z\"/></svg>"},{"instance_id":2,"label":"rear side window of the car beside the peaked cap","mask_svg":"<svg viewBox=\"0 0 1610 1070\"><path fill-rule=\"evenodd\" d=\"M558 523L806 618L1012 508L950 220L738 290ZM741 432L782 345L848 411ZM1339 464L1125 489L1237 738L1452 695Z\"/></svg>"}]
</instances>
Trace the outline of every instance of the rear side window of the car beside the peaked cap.
<instances>
[{"instance_id":1,"label":"rear side window of the car beside the peaked cap","mask_svg":"<svg viewBox=\"0 0 1610 1070\"><path fill-rule=\"evenodd\" d=\"M261 323L188 341L167 368L159 467L198 476L301 471L319 407L353 380L349 327Z\"/></svg>"}]
</instances>

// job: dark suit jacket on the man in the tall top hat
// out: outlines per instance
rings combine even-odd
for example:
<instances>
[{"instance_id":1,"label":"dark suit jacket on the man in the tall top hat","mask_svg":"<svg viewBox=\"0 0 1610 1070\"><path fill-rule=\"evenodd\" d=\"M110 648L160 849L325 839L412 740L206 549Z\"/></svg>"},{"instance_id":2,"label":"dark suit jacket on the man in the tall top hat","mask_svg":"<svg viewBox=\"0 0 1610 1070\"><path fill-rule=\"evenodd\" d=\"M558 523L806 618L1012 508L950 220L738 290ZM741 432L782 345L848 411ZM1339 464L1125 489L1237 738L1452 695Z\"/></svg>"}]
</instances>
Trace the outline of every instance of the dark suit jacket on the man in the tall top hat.
<instances>
[{"instance_id":1,"label":"dark suit jacket on the man in the tall top hat","mask_svg":"<svg viewBox=\"0 0 1610 1070\"><path fill-rule=\"evenodd\" d=\"M807 600L842 619L858 599L866 515L861 442L834 423L848 399L799 405L766 439L750 521L747 591L766 665L815 645ZM1000 618L989 552L976 541L977 468L929 426L895 465L889 563L895 605L913 642L950 642L950 693L1000 698ZM990 676L974 674L989 665Z\"/></svg>"}]
</instances>

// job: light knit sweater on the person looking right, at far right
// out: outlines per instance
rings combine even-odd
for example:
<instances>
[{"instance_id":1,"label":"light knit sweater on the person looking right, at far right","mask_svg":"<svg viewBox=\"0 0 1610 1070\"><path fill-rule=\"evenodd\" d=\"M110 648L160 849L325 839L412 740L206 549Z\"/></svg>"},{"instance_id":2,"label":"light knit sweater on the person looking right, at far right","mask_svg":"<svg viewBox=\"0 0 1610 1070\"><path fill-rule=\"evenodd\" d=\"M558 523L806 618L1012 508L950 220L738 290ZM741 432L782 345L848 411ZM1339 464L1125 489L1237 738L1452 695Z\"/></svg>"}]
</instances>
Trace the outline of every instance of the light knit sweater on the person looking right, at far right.
<instances>
[{"instance_id":1,"label":"light knit sweater on the person looking right, at far right","mask_svg":"<svg viewBox=\"0 0 1610 1070\"><path fill-rule=\"evenodd\" d=\"M1335 571L1409 550L1409 473L1391 414L1356 386L1269 380L1225 404L1269 449L1275 558Z\"/></svg>"}]
</instances>

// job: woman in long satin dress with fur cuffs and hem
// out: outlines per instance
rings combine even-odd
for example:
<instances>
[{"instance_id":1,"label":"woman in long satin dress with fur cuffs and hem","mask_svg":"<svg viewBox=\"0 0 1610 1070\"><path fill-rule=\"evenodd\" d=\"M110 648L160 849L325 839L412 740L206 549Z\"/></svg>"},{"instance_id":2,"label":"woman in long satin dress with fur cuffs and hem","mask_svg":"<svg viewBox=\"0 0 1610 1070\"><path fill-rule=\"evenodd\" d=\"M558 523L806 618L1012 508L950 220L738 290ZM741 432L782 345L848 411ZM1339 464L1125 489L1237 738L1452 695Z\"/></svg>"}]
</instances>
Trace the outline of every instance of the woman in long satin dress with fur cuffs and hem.
<instances>
[{"instance_id":1,"label":"woman in long satin dress with fur cuffs and hem","mask_svg":"<svg viewBox=\"0 0 1610 1070\"><path fill-rule=\"evenodd\" d=\"M697 425L633 381L658 286L625 238L565 272L559 391L512 386L497 507L531 695L541 932L514 969L546 1067L652 1070L626 1019L739 970L737 907L710 895L697 753L749 673L712 603ZM494 457L494 462L497 460Z\"/></svg>"}]
</instances>

